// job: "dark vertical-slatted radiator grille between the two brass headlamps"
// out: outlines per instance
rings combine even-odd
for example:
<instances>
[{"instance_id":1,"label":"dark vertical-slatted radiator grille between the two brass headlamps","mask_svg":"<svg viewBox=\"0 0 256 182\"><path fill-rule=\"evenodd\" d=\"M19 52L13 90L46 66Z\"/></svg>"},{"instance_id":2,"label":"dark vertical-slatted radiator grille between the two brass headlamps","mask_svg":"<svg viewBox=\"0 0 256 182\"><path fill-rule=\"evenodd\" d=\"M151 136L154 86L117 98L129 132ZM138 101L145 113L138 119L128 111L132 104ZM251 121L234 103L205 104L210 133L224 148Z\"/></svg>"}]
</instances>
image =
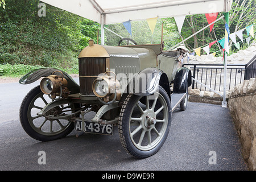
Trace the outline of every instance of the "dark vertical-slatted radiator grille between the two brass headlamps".
<instances>
[{"instance_id":1,"label":"dark vertical-slatted radiator grille between the two brass headlamps","mask_svg":"<svg viewBox=\"0 0 256 182\"><path fill-rule=\"evenodd\" d=\"M94 95L93 81L100 73L106 72L106 57L81 57L79 58L80 94Z\"/></svg>"}]
</instances>

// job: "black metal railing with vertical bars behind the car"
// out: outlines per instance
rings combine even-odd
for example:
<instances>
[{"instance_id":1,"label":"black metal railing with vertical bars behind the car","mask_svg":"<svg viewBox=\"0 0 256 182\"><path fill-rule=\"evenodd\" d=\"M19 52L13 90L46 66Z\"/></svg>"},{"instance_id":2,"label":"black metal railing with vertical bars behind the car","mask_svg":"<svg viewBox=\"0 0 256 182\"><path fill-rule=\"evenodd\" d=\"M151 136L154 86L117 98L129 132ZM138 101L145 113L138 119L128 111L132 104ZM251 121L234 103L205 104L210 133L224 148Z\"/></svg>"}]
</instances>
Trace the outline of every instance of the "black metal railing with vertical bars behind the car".
<instances>
[{"instance_id":1,"label":"black metal railing with vertical bars behind the car","mask_svg":"<svg viewBox=\"0 0 256 182\"><path fill-rule=\"evenodd\" d=\"M192 89L215 90L223 92L224 65L223 64L183 64L182 67L191 69ZM243 80L256 76L256 56L247 64L228 64L226 72L226 88L232 89ZM207 85L204 86L204 85ZM209 89L210 88L210 89Z\"/></svg>"}]
</instances>

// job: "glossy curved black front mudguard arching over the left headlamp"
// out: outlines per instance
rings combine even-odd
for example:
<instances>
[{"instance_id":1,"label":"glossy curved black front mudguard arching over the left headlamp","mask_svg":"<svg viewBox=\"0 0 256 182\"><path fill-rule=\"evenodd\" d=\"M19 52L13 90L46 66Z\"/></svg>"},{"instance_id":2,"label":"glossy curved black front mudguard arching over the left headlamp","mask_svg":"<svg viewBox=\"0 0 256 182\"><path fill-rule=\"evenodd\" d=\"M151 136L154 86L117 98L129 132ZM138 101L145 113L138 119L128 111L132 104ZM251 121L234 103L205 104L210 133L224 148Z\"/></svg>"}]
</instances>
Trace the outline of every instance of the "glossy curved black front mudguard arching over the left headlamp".
<instances>
[{"instance_id":1,"label":"glossy curved black front mudguard arching over the left headlamp","mask_svg":"<svg viewBox=\"0 0 256 182\"><path fill-rule=\"evenodd\" d=\"M52 75L54 71L61 71L60 69L55 68L39 68L35 69L34 71L31 71L24 75L22 78L20 78L19 83L20 84L31 84L32 82L35 82L41 77L47 77L49 75ZM79 93L80 92L80 86L76 83L75 80L71 76L69 76L67 73L61 71L63 73L64 78L68 81L67 88L69 91L71 91L71 94ZM60 74L60 73L59 73Z\"/></svg>"}]
</instances>

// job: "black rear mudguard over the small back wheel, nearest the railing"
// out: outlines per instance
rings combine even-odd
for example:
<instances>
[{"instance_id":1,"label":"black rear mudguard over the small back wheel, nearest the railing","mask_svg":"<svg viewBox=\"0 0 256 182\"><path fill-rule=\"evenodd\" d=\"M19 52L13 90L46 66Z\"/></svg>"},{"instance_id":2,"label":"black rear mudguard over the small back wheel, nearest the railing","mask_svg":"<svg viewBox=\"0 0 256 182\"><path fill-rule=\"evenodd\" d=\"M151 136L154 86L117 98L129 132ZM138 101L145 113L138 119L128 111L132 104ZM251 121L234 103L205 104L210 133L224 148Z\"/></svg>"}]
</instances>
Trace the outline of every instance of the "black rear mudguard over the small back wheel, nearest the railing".
<instances>
[{"instance_id":1,"label":"black rear mudguard over the small back wheel, nearest the railing","mask_svg":"<svg viewBox=\"0 0 256 182\"><path fill-rule=\"evenodd\" d=\"M178 69L174 78L174 93L187 92L187 87L191 84L191 71L185 67Z\"/></svg>"}]
</instances>

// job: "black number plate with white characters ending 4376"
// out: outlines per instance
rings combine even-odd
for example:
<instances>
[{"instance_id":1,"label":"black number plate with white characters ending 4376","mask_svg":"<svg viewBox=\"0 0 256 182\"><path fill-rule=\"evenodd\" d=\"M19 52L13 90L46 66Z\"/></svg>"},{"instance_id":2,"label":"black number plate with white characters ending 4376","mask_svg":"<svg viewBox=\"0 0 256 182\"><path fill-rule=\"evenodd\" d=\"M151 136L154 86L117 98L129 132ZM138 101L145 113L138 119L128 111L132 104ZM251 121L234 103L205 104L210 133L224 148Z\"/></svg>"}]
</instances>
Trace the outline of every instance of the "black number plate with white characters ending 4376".
<instances>
[{"instance_id":1,"label":"black number plate with white characters ending 4376","mask_svg":"<svg viewBox=\"0 0 256 182\"><path fill-rule=\"evenodd\" d=\"M82 131L82 121L75 121L75 130ZM94 123L90 121L84 122L84 132L94 134L113 135L113 125L102 125L100 123Z\"/></svg>"}]
</instances>

